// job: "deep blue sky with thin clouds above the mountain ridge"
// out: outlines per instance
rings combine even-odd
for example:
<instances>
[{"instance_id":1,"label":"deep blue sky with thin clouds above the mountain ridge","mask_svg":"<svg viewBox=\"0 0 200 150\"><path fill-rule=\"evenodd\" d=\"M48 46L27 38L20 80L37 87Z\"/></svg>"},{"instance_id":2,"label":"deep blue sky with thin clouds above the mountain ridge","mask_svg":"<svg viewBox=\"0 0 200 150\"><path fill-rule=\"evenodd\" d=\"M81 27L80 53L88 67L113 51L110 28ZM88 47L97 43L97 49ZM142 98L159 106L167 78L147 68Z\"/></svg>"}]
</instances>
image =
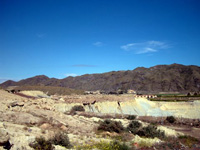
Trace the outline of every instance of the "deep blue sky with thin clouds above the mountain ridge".
<instances>
[{"instance_id":1,"label":"deep blue sky with thin clouds above the mountain ridge","mask_svg":"<svg viewBox=\"0 0 200 150\"><path fill-rule=\"evenodd\" d=\"M0 82L200 66L199 0L1 0Z\"/></svg>"}]
</instances>

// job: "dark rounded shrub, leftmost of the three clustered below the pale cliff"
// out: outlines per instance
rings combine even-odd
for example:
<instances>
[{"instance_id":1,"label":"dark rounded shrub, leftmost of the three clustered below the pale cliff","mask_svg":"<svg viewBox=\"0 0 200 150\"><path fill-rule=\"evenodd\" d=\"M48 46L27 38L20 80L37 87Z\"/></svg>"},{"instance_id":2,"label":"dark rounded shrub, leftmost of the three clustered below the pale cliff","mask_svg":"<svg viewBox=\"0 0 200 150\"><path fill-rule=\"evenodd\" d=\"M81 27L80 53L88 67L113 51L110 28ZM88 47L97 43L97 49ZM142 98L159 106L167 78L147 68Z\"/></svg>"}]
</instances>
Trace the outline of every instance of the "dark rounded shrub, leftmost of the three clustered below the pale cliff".
<instances>
[{"instance_id":1,"label":"dark rounded shrub, leftmost of the three clustered below the pale cliff","mask_svg":"<svg viewBox=\"0 0 200 150\"><path fill-rule=\"evenodd\" d=\"M121 133L124 127L121 122L106 119L100 123L98 130Z\"/></svg>"}]
</instances>

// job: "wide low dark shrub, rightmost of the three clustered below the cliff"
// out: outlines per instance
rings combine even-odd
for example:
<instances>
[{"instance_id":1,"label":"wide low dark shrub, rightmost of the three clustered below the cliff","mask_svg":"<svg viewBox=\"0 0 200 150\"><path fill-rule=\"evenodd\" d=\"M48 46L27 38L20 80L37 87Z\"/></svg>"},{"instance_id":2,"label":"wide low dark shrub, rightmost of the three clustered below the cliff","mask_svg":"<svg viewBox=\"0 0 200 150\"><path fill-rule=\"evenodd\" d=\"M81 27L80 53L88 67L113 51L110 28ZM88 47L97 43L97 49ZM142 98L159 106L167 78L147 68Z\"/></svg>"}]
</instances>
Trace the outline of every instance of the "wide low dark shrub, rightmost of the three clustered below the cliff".
<instances>
[{"instance_id":1,"label":"wide low dark shrub, rightmost of the three clustered below the cliff","mask_svg":"<svg viewBox=\"0 0 200 150\"><path fill-rule=\"evenodd\" d=\"M151 125L151 124L148 125L147 127L140 129L136 134L139 136L144 136L148 138L155 138L155 137L164 138L165 137L165 133L163 131L160 131L159 129L157 129L156 126Z\"/></svg>"}]
</instances>

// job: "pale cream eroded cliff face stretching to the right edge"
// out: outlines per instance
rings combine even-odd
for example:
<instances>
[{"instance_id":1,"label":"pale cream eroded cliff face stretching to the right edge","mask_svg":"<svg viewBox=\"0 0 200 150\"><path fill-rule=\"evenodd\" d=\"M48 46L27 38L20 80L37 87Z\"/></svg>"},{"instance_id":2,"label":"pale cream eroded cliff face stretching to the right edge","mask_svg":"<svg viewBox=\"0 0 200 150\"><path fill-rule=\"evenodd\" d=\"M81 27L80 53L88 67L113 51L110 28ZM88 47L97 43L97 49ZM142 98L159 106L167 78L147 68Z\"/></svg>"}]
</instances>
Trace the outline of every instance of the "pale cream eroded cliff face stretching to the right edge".
<instances>
[{"instance_id":1,"label":"pale cream eroded cliff face stretching to the right edge","mask_svg":"<svg viewBox=\"0 0 200 150\"><path fill-rule=\"evenodd\" d=\"M70 111L81 103L58 104L55 109L61 112ZM86 112L107 114L131 114L138 116L176 116L200 118L200 101L195 102L151 102L145 98L133 98L128 101L96 102L84 106Z\"/></svg>"}]
</instances>

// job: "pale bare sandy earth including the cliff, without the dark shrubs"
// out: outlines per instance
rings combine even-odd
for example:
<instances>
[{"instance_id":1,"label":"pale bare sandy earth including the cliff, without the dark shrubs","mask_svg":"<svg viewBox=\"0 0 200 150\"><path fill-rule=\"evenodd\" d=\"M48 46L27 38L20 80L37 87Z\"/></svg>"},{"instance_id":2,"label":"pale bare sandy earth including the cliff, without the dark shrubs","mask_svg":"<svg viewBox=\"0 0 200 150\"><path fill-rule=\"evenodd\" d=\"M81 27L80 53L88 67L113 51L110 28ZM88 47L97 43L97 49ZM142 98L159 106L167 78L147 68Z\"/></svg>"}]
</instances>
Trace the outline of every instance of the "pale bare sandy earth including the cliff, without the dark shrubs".
<instances>
[{"instance_id":1,"label":"pale bare sandy earth including the cliff, without the dark shrubs","mask_svg":"<svg viewBox=\"0 0 200 150\"><path fill-rule=\"evenodd\" d=\"M36 137L43 136L49 139L57 132L67 132L70 142L74 146L90 144L94 141L109 141L109 138L96 134L98 122L109 115L118 118L115 120L121 121L124 126L127 126L130 121L119 118L126 114L150 116L155 113L155 116L164 116L171 111L170 113L175 116L180 116L180 113L187 109L184 113L187 118L200 119L199 102L195 102L195 105L182 103L181 107L174 103L171 108L169 103L153 103L146 99L134 100L132 95L54 95L48 97L38 91L26 91L22 94L28 95L30 98L0 90L0 150L3 149L5 141L10 142L11 150L31 150L29 144L34 142ZM85 106L85 113L76 115L69 113L74 105L94 101L96 101L94 105ZM145 122L147 121L144 120L143 124L147 125L148 123ZM177 132L177 129L169 127L161 127L161 130L164 130L169 136L182 134L181 130ZM144 139L133 136L132 140ZM159 143L159 140L151 142ZM55 148L57 150L65 149L61 146L55 146Z\"/></svg>"}]
</instances>

